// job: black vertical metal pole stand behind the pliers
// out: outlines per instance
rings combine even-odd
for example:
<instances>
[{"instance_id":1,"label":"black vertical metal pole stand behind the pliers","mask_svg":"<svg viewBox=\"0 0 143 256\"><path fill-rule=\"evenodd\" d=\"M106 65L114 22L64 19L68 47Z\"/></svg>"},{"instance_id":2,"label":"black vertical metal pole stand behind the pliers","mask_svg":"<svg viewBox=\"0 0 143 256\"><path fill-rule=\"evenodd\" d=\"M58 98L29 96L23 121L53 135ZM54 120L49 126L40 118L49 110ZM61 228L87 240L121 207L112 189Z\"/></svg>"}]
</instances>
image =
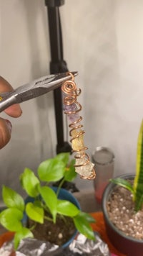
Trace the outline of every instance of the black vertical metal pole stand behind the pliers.
<instances>
[{"instance_id":1,"label":"black vertical metal pole stand behind the pliers","mask_svg":"<svg viewBox=\"0 0 143 256\"><path fill-rule=\"evenodd\" d=\"M51 47L50 73L62 73L68 71L66 62L63 59L63 46L61 36L61 21L59 6L64 4L64 0L45 0L49 21L49 38ZM64 124L62 108L61 88L54 90L54 110L56 116L56 153L71 152L71 145L64 142Z\"/></svg>"}]
</instances>

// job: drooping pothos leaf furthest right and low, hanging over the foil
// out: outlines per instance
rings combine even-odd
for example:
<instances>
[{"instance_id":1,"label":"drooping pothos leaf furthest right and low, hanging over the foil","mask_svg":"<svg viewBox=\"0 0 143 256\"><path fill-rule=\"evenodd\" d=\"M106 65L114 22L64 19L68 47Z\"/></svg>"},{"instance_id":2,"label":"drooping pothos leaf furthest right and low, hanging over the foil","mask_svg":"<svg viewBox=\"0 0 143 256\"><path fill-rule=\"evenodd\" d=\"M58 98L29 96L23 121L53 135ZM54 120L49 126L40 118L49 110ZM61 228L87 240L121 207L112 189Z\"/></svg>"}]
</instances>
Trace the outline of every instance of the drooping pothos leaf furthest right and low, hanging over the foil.
<instances>
[{"instance_id":1,"label":"drooping pothos leaf furthest right and low, hanging over the foil","mask_svg":"<svg viewBox=\"0 0 143 256\"><path fill-rule=\"evenodd\" d=\"M84 234L89 239L95 240L92 227L81 212L74 217L74 225L80 233Z\"/></svg>"}]
</instances>

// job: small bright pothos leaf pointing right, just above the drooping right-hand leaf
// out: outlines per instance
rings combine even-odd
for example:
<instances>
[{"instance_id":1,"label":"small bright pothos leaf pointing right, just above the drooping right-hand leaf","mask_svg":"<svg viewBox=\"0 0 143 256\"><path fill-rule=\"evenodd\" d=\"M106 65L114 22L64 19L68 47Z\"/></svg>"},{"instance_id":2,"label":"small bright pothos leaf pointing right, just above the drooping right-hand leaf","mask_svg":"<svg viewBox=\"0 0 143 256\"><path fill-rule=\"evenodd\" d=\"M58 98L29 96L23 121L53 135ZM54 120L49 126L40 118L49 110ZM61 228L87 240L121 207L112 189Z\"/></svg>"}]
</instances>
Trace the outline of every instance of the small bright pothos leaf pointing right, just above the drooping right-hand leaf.
<instances>
[{"instance_id":1,"label":"small bright pothos leaf pointing right, just above the drooping right-hand leaf","mask_svg":"<svg viewBox=\"0 0 143 256\"><path fill-rule=\"evenodd\" d=\"M70 217L74 217L77 214L79 214L80 210L77 208L77 206L74 206L74 204L72 204L71 202L58 199L57 203L58 203L57 204L58 214L62 214L64 216L70 216Z\"/></svg>"}]
</instances>

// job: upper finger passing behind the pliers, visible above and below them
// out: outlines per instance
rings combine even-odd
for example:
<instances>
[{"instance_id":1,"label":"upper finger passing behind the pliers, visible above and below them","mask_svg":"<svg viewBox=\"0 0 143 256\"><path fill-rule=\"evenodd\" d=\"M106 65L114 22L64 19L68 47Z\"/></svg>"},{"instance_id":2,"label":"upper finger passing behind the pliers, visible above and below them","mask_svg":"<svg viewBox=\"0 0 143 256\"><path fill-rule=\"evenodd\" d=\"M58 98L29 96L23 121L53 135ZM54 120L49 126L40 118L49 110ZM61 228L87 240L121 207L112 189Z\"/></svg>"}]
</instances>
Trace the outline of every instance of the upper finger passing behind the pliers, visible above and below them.
<instances>
[{"instance_id":1,"label":"upper finger passing behind the pliers, visible above and below them","mask_svg":"<svg viewBox=\"0 0 143 256\"><path fill-rule=\"evenodd\" d=\"M10 83L8 83L8 81L6 81L4 78L0 76L0 93L6 92L6 91L13 91L13 90L14 89L12 88ZM12 117L19 117L21 116L21 113L22 113L21 107L19 106L19 104L14 104L13 106L9 106L9 108L5 109L4 112Z\"/></svg>"}]
</instances>

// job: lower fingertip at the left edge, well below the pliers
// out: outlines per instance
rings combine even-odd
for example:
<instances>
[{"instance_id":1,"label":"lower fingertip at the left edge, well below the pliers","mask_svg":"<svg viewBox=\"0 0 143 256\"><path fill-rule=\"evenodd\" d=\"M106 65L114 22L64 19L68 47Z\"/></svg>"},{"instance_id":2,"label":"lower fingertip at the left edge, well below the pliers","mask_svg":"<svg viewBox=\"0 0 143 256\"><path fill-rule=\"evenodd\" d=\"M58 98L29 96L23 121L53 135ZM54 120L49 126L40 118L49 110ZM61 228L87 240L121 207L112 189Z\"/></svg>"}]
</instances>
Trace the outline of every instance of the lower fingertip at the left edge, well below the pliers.
<instances>
[{"instance_id":1,"label":"lower fingertip at the left edge, well below the pliers","mask_svg":"<svg viewBox=\"0 0 143 256\"><path fill-rule=\"evenodd\" d=\"M0 149L4 147L11 138L12 125L9 120L0 118Z\"/></svg>"}]
</instances>

